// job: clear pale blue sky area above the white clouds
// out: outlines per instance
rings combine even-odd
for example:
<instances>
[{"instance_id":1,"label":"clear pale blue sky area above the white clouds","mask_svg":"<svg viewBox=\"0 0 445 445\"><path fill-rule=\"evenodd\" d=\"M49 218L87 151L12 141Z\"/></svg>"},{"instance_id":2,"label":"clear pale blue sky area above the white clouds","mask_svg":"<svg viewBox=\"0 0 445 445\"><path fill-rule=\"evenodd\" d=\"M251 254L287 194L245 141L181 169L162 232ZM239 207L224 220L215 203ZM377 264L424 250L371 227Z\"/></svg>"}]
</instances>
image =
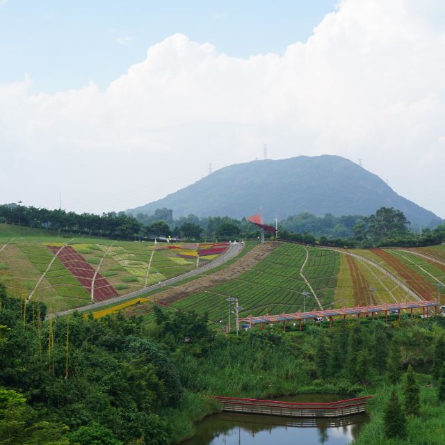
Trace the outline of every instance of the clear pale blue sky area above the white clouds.
<instances>
[{"instance_id":1,"label":"clear pale blue sky area above the white clouds","mask_svg":"<svg viewBox=\"0 0 445 445\"><path fill-rule=\"evenodd\" d=\"M0 3L2 1L0 0ZM282 54L305 41L334 0L7 0L0 6L0 83L33 79L30 92L105 88L147 49L184 33L236 57Z\"/></svg>"}]
</instances>

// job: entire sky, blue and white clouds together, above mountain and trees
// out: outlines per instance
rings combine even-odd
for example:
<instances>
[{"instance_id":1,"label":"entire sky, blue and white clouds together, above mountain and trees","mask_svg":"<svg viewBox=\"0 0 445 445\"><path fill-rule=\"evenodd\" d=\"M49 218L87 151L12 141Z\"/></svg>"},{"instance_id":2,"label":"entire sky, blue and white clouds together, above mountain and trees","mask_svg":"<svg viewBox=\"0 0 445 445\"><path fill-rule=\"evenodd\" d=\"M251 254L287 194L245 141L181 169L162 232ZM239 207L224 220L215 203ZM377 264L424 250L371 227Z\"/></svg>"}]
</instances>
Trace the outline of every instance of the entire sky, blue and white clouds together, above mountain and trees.
<instances>
[{"instance_id":1,"label":"entire sky, blue and white clouds together, above mountain and trees","mask_svg":"<svg viewBox=\"0 0 445 445\"><path fill-rule=\"evenodd\" d=\"M267 143L445 218L444 50L442 0L0 0L0 202L120 211Z\"/></svg>"}]
</instances>

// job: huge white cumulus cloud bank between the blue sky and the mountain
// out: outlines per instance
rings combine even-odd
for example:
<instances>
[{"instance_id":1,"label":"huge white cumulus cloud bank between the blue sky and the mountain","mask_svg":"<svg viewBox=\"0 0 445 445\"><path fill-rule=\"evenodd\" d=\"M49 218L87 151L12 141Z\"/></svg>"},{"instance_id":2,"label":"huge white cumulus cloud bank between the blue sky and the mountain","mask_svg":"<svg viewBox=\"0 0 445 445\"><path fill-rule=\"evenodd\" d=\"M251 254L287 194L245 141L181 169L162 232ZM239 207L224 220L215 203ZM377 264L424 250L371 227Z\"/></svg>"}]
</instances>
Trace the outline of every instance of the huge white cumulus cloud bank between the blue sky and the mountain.
<instances>
[{"instance_id":1,"label":"huge white cumulus cloud bank between the blue sky and the mountain","mask_svg":"<svg viewBox=\"0 0 445 445\"><path fill-rule=\"evenodd\" d=\"M250 58L172 35L104 91L0 86L1 201L55 207L61 190L69 209L126 209L268 143L273 158L362 158L445 217L441 4L345 0L307 42Z\"/></svg>"}]
</instances>

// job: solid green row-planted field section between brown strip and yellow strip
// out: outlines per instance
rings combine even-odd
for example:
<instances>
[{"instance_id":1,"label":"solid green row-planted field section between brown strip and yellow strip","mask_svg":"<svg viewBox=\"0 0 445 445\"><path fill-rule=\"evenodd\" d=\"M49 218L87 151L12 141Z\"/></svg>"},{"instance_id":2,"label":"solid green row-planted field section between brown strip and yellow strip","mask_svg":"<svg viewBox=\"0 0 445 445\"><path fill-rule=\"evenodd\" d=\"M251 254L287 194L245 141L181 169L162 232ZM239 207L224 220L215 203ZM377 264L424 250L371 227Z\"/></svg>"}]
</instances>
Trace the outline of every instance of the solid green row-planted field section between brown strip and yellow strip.
<instances>
[{"instance_id":1,"label":"solid green row-planted field section between brown strip and yellow strip","mask_svg":"<svg viewBox=\"0 0 445 445\"><path fill-rule=\"evenodd\" d=\"M332 250L283 243L252 269L210 289L172 304L177 309L208 312L211 321L225 323L226 298L238 298L240 314L279 314L332 305L339 272L339 254Z\"/></svg>"}]
</instances>

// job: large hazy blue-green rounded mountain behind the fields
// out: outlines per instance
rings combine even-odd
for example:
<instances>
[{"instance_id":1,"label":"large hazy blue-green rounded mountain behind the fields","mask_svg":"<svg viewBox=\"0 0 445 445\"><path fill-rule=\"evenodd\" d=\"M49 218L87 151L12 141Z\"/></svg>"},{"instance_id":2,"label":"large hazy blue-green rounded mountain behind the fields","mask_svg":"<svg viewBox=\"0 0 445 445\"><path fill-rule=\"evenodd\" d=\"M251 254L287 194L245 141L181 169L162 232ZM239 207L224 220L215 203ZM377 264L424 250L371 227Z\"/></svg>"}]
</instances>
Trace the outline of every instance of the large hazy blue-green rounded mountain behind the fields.
<instances>
[{"instance_id":1,"label":"large hazy blue-green rounded mountain behind the fields","mask_svg":"<svg viewBox=\"0 0 445 445\"><path fill-rule=\"evenodd\" d=\"M301 212L323 216L370 215L380 207L403 211L414 225L435 227L442 219L398 195L385 181L341 156L296 158L229 165L161 200L127 212L173 209L187 216L250 216L262 207L265 219Z\"/></svg>"}]
</instances>

